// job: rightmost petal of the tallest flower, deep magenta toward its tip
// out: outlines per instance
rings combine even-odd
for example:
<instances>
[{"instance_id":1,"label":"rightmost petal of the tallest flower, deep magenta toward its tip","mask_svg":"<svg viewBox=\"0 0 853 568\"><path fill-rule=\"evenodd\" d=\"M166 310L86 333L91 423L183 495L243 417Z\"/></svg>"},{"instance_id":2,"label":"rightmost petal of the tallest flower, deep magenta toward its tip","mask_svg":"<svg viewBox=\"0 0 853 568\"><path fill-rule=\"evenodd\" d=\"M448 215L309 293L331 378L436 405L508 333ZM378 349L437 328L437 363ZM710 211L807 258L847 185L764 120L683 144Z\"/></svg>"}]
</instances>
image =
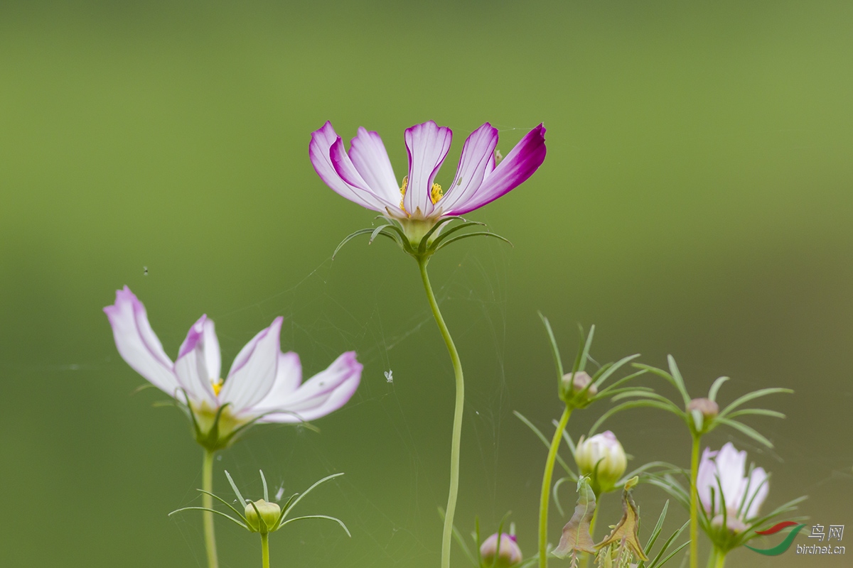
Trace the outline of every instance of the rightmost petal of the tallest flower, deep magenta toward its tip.
<instances>
[{"instance_id":1,"label":"rightmost petal of the tallest flower, deep magenta toward its tip","mask_svg":"<svg viewBox=\"0 0 853 568\"><path fill-rule=\"evenodd\" d=\"M453 208L445 208L444 215L464 215L512 191L542 165L546 152L545 127L540 124L515 145L494 171L485 176L477 191Z\"/></svg>"}]
</instances>

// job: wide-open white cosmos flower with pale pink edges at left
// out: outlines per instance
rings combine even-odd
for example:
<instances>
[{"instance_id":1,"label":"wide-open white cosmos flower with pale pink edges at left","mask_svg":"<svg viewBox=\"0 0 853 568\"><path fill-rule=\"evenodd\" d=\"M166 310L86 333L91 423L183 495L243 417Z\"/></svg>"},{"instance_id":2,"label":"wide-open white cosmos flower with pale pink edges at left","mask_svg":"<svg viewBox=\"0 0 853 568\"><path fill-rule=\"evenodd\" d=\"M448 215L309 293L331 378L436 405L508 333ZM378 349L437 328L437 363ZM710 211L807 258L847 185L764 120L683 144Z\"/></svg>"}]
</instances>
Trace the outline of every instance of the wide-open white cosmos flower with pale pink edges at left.
<instances>
[{"instance_id":1,"label":"wide-open white cosmos flower with pale pink edges at left","mask_svg":"<svg viewBox=\"0 0 853 568\"><path fill-rule=\"evenodd\" d=\"M296 423L326 416L346 404L361 380L362 364L348 351L302 382L299 355L281 353L281 317L241 349L223 379L219 341L206 315L189 329L172 363L148 324L145 307L127 286L116 291L115 303L104 312L122 359L154 387L187 404L200 433L220 413L218 439L225 444L229 433L249 422Z\"/></svg>"}]
</instances>

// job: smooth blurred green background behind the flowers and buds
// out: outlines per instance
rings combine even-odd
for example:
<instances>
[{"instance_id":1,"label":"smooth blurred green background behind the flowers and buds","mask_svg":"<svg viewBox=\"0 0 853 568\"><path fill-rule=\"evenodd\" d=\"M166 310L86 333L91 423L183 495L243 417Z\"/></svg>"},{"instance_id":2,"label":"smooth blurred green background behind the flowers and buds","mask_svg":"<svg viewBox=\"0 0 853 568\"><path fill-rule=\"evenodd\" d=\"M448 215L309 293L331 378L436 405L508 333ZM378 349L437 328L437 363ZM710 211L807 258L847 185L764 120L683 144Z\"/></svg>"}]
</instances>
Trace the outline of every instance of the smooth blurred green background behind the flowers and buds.
<instances>
[{"instance_id":1,"label":"smooth blurred green background behind the flowers and buds","mask_svg":"<svg viewBox=\"0 0 853 568\"><path fill-rule=\"evenodd\" d=\"M531 181L470 215L514 247L472 239L430 266L467 374L462 531L512 510L536 548L546 451L512 410L543 428L560 413L537 309L566 353L596 324L601 362L674 354L697 395L721 375L724 402L796 389L766 399L786 420L747 421L775 450L725 429L707 443L773 473L765 508L808 494L806 522L853 525L851 56L849 2L5 0L0 565L205 565L200 517L166 517L198 503L200 449L179 412L152 408L165 395L134 393L144 380L101 311L125 284L171 357L201 313L225 368L283 315L308 375L348 349L365 364L321 433L257 428L221 454L222 492L223 469L255 496L258 468L287 494L346 473L300 508L352 538L293 525L271 538L273 565L438 565L450 362L414 261L361 239L332 261L373 214L311 168L326 120L345 140L379 131L398 177L403 129L450 126L444 184L481 123L504 154L548 128ZM573 435L603 408L572 416ZM688 465L670 416L609 427L635 465ZM656 517L664 494L637 495ZM604 506L615 522L618 497ZM565 519L551 520L555 541ZM218 537L224 567L258 565L257 536L220 523ZM741 550L729 565L847 562Z\"/></svg>"}]
</instances>

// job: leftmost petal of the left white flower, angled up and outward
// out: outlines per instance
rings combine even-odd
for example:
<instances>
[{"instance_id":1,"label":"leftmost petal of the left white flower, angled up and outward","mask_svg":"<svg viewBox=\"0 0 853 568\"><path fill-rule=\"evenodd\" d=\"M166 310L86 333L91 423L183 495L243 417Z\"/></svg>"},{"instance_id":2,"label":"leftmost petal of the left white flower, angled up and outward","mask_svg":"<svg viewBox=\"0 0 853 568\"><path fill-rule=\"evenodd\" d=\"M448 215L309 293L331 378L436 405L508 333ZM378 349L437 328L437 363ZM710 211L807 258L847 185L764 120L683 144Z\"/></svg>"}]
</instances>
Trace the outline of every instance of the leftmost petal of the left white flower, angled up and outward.
<instances>
[{"instance_id":1,"label":"leftmost petal of the left white flower, angled up and outward","mask_svg":"<svg viewBox=\"0 0 853 568\"><path fill-rule=\"evenodd\" d=\"M180 387L174 365L163 351L163 345L148 324L148 314L131 289L116 290L115 303L104 308L113 327L115 347L133 370L145 377L154 387L176 396Z\"/></svg>"}]
</instances>

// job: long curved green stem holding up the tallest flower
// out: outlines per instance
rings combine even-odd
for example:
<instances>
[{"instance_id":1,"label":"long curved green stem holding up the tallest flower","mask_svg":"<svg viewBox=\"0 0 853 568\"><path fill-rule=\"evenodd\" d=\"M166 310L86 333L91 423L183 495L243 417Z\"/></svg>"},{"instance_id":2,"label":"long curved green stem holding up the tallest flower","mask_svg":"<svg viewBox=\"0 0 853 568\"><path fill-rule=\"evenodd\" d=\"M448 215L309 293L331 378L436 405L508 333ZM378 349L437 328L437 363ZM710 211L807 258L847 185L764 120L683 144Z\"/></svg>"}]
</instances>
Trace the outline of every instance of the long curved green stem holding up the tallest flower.
<instances>
[{"instance_id":1,"label":"long curved green stem holding up the tallest flower","mask_svg":"<svg viewBox=\"0 0 853 568\"><path fill-rule=\"evenodd\" d=\"M456 405L453 411L453 439L450 442L450 493L447 496L447 509L444 513L444 532L441 537L441 568L450 568L450 542L453 537L453 515L456 513L456 497L459 494L459 448L462 439L462 409L465 403L465 382L462 380L462 364L459 361L459 353L450 337L447 324L438 310L438 302L432 294L432 286L429 284L427 275L427 259L418 259L418 267L421 268L421 279L424 289L427 290L427 300L432 308L432 316L438 324L438 330L444 337L447 351L450 353L450 361L453 363L453 374L456 376Z\"/></svg>"}]
</instances>

